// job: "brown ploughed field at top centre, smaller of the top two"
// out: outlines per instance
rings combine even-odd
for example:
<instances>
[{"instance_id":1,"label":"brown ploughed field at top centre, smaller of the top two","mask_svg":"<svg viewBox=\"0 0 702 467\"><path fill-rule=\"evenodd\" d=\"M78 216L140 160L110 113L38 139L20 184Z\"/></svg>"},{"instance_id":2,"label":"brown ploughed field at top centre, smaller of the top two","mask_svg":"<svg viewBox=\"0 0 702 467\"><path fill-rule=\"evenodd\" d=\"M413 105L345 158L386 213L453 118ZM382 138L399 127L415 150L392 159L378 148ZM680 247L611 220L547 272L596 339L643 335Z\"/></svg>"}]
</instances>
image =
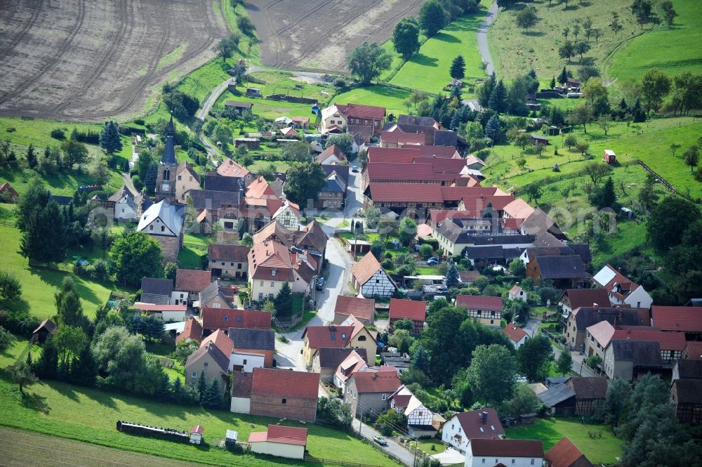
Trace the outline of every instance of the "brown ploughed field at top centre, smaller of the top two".
<instances>
[{"instance_id":1,"label":"brown ploughed field at top centre, smaller of the top two","mask_svg":"<svg viewBox=\"0 0 702 467\"><path fill-rule=\"evenodd\" d=\"M424 1L256 0L246 8L264 65L335 72L346 70L346 55L364 41L390 39L395 24L416 16Z\"/></svg>"}]
</instances>

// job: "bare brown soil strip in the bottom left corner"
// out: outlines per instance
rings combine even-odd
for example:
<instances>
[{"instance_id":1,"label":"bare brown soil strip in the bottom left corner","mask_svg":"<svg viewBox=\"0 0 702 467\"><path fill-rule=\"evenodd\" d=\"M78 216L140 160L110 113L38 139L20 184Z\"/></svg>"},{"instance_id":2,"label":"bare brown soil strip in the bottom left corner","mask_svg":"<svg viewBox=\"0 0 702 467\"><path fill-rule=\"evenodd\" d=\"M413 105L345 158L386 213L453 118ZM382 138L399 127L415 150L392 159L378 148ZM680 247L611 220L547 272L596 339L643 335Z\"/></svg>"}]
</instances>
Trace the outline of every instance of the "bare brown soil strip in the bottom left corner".
<instances>
[{"instance_id":1,"label":"bare brown soil strip in the bottom left corner","mask_svg":"<svg viewBox=\"0 0 702 467\"><path fill-rule=\"evenodd\" d=\"M0 466L3 467L186 467L203 464L183 462L87 442L66 440L31 431L0 426Z\"/></svg>"}]
</instances>

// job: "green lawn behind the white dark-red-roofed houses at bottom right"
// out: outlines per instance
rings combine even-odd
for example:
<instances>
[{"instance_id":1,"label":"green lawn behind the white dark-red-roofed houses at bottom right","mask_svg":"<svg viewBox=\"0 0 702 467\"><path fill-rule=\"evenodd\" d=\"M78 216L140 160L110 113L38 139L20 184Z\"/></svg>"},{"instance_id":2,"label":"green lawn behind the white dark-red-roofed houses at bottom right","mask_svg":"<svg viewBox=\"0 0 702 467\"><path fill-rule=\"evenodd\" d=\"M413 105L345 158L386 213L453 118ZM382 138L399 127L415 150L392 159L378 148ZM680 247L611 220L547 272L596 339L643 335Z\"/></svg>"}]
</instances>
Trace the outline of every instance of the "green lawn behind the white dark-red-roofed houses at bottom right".
<instances>
[{"instance_id":1,"label":"green lawn behind the white dark-red-roofed houses at bottom right","mask_svg":"<svg viewBox=\"0 0 702 467\"><path fill-rule=\"evenodd\" d=\"M590 432L597 438L590 438ZM541 440L544 451L551 449L561 438L568 437L595 465L616 463L616 458L621 456L621 440L614 438L609 426L581 423L575 418L536 419L533 425L505 428L505 434L511 439Z\"/></svg>"}]
</instances>

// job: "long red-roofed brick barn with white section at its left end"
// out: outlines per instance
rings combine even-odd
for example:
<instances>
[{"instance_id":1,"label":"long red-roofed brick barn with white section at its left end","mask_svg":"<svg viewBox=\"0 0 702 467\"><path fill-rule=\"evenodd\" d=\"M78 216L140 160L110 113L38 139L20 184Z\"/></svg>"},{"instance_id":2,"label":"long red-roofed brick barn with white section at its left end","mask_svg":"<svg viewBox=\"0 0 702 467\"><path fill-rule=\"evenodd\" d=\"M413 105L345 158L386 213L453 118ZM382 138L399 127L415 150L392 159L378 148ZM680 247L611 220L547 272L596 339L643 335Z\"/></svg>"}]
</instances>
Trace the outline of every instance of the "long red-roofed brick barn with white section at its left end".
<instances>
[{"instance_id":1,"label":"long red-roofed brick barn with white section at its left end","mask_svg":"<svg viewBox=\"0 0 702 467\"><path fill-rule=\"evenodd\" d=\"M232 374L232 412L314 421L319 374L254 368Z\"/></svg>"}]
</instances>

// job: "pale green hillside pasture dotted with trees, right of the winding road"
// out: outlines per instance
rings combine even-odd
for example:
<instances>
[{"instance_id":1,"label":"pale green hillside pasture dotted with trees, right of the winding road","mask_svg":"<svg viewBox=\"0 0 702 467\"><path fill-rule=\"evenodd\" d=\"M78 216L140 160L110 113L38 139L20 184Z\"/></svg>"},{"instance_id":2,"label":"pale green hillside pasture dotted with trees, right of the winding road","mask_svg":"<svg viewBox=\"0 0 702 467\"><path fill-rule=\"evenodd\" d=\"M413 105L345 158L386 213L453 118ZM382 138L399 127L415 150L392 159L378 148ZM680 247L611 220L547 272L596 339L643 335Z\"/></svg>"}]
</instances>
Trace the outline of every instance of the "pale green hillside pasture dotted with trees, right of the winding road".
<instances>
[{"instance_id":1,"label":"pale green hillside pasture dotted with trees, right of the winding road","mask_svg":"<svg viewBox=\"0 0 702 467\"><path fill-rule=\"evenodd\" d=\"M594 38L590 39L592 50L585 54L585 56L595 58L597 64L622 39L641 32L630 12L631 1L611 0L585 3L588 6L580 6L578 1L570 1L569 8L565 8L564 4L559 4L556 1L551 7L548 6L546 0L534 1L532 4L536 7L540 20L536 27L527 32L517 27L515 21L517 8L501 9L488 32L488 43L498 76L512 79L533 67L537 70L542 86L548 84L551 77L557 76L563 65L567 65L565 60L558 57L558 48L565 41L562 36L564 27L570 27L572 30L575 21L582 20L586 16L592 18L592 27L599 28L602 32L599 44ZM607 26L611 21L611 14L615 11L619 14L619 20L624 26L617 37ZM568 39L574 40L572 33ZM581 32L578 35L578 41L584 39L584 33ZM568 65L574 74L577 71L578 60L580 60L579 56L573 58L573 63Z\"/></svg>"}]
</instances>

